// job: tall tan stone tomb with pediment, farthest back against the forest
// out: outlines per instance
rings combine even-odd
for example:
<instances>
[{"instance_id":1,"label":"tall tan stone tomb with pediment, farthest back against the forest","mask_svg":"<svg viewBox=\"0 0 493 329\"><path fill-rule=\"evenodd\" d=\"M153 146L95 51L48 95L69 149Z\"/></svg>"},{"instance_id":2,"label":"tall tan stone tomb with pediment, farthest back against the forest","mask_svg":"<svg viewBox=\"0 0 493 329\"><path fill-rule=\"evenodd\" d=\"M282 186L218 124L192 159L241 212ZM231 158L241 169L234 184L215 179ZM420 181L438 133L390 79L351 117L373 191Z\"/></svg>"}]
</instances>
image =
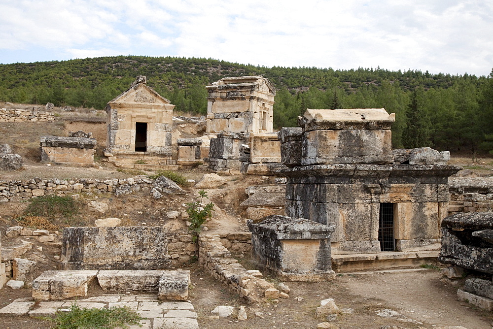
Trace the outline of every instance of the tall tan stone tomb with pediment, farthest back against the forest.
<instances>
[{"instance_id":1,"label":"tall tan stone tomb with pediment, farthest back against the forest","mask_svg":"<svg viewBox=\"0 0 493 329\"><path fill-rule=\"evenodd\" d=\"M272 132L276 92L268 79L261 75L222 78L206 89L206 132Z\"/></svg>"}]
</instances>

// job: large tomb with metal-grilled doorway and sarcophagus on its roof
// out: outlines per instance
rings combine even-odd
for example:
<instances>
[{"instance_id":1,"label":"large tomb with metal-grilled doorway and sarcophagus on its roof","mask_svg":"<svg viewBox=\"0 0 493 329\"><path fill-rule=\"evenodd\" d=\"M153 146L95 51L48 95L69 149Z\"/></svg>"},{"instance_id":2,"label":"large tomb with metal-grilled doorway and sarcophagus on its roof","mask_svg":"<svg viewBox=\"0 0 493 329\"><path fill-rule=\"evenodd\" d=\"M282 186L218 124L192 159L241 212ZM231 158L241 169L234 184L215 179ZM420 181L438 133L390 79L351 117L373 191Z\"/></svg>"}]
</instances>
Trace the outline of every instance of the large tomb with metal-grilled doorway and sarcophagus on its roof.
<instances>
[{"instance_id":1,"label":"large tomb with metal-grilled doorway and sarcophagus on its roof","mask_svg":"<svg viewBox=\"0 0 493 329\"><path fill-rule=\"evenodd\" d=\"M393 121L385 109L308 109L301 132L279 133L282 164L289 167L279 170L287 177L286 215L334 223L338 266L438 256L448 177L460 167L444 164L448 152L392 152ZM393 251L402 253L382 254Z\"/></svg>"}]
</instances>

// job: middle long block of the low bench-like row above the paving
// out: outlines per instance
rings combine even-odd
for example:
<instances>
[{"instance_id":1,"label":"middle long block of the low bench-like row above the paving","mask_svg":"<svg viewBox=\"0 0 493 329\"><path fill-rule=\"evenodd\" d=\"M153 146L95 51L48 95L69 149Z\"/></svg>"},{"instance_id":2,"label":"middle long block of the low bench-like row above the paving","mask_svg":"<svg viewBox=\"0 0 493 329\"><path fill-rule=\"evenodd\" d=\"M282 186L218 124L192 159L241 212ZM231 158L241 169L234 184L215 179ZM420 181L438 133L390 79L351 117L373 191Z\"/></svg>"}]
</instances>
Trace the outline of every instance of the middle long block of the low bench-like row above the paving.
<instances>
[{"instance_id":1,"label":"middle long block of the low bench-like row above the paving","mask_svg":"<svg viewBox=\"0 0 493 329\"><path fill-rule=\"evenodd\" d=\"M101 270L98 282L105 291L158 291L158 282L166 271Z\"/></svg>"}]
</instances>

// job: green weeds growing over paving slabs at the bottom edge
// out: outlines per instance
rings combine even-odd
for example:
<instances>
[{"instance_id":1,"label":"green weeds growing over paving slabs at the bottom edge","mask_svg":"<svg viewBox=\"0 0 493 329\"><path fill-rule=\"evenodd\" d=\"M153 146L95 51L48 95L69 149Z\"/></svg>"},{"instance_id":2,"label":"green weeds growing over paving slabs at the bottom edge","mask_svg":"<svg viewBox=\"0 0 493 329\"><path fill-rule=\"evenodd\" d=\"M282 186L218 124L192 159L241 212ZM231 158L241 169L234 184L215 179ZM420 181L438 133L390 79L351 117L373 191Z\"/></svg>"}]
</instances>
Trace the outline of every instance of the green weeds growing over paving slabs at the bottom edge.
<instances>
[{"instance_id":1,"label":"green weeds growing over paving slabs at the bottom edge","mask_svg":"<svg viewBox=\"0 0 493 329\"><path fill-rule=\"evenodd\" d=\"M43 317L53 323L53 329L129 328L143 318L129 307L80 308L72 304L69 312L58 311L55 318Z\"/></svg>"}]
</instances>

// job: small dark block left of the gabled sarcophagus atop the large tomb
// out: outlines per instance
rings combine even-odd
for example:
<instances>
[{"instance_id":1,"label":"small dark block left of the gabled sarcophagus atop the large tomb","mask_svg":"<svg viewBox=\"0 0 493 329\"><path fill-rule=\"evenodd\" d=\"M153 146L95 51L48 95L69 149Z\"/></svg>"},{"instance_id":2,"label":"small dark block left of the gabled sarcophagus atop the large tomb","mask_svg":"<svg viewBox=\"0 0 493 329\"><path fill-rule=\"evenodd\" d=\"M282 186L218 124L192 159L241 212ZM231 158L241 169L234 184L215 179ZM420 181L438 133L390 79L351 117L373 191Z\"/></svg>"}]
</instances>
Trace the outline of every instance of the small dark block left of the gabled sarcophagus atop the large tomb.
<instances>
[{"instance_id":1,"label":"small dark block left of the gabled sarcophagus atop the large tomb","mask_svg":"<svg viewBox=\"0 0 493 329\"><path fill-rule=\"evenodd\" d=\"M301 165L301 138L303 129L283 127L278 132L281 141L281 163L288 167Z\"/></svg>"}]
</instances>

